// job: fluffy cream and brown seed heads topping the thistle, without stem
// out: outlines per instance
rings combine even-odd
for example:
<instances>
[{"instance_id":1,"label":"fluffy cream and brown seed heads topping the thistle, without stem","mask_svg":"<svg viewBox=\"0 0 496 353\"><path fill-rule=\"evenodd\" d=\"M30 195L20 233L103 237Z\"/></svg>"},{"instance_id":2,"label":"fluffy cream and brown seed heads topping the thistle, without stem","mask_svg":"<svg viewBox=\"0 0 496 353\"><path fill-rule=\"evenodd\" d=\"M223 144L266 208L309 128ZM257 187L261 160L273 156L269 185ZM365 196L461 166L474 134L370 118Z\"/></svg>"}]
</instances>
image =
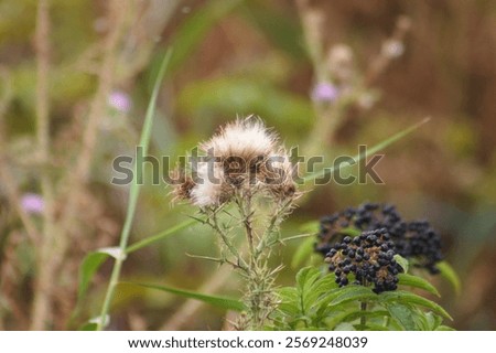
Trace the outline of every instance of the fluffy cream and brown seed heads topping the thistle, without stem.
<instances>
[{"instance_id":1,"label":"fluffy cream and brown seed heads topping the thistle, without stem","mask_svg":"<svg viewBox=\"0 0 496 353\"><path fill-rule=\"evenodd\" d=\"M175 186L177 199L200 207L216 207L229 202L236 192L268 191L278 201L293 197L295 167L270 131L256 117L227 124L206 142L204 161L193 168L194 178Z\"/></svg>"}]
</instances>

